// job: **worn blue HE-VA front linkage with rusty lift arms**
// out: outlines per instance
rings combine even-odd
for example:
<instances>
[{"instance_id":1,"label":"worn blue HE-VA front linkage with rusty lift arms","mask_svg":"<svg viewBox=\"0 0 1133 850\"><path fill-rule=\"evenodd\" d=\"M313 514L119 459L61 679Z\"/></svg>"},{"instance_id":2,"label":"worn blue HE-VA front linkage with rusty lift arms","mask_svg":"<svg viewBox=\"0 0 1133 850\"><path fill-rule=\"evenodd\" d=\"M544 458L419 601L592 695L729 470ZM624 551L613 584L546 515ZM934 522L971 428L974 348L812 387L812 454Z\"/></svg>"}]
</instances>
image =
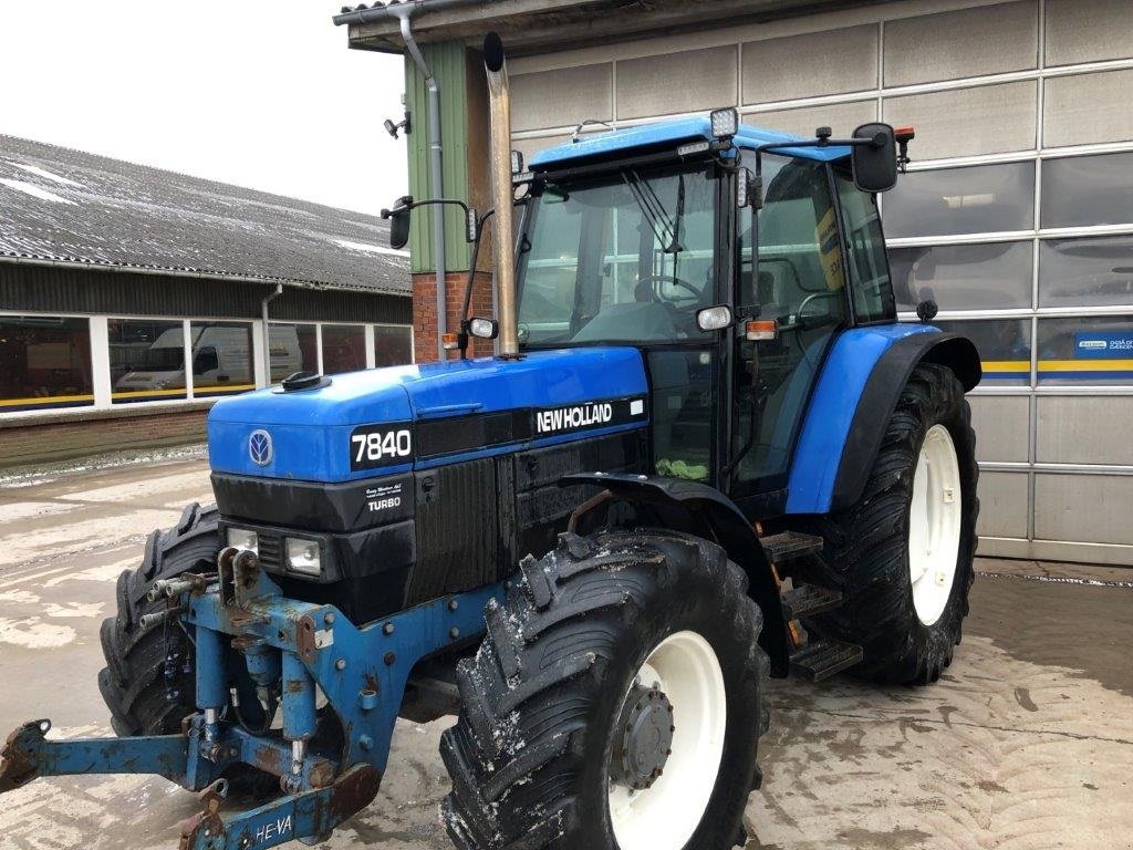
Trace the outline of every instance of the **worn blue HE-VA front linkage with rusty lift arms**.
<instances>
[{"instance_id":1,"label":"worn blue HE-VA front linkage with rusty lift arms","mask_svg":"<svg viewBox=\"0 0 1133 850\"><path fill-rule=\"evenodd\" d=\"M181 734L49 741L51 722L33 721L0 750L0 793L37 776L157 774L202 791L204 810L186 822L181 850L325 838L377 794L414 665L483 632L485 604L503 595L493 585L359 628L333 605L284 598L252 552L225 549L218 567L215 577L187 576L156 588L170 593L173 611L195 627L198 712L186 717ZM233 656L225 639L256 686L279 687L281 733L256 734L227 719ZM308 750L318 721L316 687L341 725L338 759ZM279 776L284 796L224 819L222 774L238 764Z\"/></svg>"}]
</instances>

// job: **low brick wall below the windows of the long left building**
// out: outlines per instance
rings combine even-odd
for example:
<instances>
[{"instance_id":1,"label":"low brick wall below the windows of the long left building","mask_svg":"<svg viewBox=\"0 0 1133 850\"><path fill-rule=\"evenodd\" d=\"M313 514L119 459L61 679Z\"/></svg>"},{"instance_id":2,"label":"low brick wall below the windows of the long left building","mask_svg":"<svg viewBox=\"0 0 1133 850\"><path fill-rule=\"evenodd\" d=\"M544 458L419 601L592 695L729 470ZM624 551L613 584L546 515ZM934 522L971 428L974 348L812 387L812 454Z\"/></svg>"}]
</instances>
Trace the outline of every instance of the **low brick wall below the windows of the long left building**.
<instances>
[{"instance_id":1,"label":"low brick wall below the windows of the long left building","mask_svg":"<svg viewBox=\"0 0 1133 850\"><path fill-rule=\"evenodd\" d=\"M212 402L188 408L68 411L0 419L0 468L128 449L204 442Z\"/></svg>"}]
</instances>

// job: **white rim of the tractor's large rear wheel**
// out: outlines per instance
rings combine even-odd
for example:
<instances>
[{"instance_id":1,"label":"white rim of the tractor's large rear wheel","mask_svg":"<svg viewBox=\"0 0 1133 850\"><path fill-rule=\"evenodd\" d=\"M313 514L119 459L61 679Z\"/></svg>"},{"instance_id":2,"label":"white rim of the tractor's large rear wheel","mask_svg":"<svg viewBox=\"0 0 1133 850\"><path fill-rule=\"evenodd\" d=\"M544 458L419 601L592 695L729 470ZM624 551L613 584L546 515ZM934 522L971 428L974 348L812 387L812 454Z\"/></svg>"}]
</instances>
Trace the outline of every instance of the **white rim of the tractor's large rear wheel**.
<instances>
[{"instance_id":1,"label":"white rim of the tractor's large rear wheel","mask_svg":"<svg viewBox=\"0 0 1133 850\"><path fill-rule=\"evenodd\" d=\"M909 580L926 626L944 613L956 578L962 515L960 464L952 434L934 425L925 435L909 505Z\"/></svg>"}]
</instances>

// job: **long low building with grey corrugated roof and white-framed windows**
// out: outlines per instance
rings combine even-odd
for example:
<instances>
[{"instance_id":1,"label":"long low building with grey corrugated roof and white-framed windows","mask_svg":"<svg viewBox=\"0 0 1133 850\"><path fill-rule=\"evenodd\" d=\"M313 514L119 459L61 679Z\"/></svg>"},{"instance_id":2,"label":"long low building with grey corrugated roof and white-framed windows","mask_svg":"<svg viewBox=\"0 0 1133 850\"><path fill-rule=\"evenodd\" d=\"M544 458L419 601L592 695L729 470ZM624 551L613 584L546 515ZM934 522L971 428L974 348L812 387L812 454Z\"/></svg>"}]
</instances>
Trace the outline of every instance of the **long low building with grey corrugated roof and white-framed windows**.
<instances>
[{"instance_id":1,"label":"long low building with grey corrugated roof and white-framed windows","mask_svg":"<svg viewBox=\"0 0 1133 850\"><path fill-rule=\"evenodd\" d=\"M375 216L0 136L0 466L201 440L216 398L411 363L387 240Z\"/></svg>"}]
</instances>

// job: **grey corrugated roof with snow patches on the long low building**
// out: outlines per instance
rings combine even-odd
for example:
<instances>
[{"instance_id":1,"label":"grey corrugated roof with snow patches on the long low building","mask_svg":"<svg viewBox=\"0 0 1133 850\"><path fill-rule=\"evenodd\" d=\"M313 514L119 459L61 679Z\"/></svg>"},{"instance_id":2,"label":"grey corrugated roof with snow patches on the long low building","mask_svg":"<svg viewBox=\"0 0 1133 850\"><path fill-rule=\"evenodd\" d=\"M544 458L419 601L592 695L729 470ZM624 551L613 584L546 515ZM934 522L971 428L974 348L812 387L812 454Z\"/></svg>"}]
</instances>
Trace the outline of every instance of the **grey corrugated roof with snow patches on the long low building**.
<instances>
[{"instance_id":1,"label":"grey corrugated roof with snow patches on the long low building","mask_svg":"<svg viewBox=\"0 0 1133 850\"><path fill-rule=\"evenodd\" d=\"M0 135L0 255L409 295L380 218Z\"/></svg>"}]
</instances>

